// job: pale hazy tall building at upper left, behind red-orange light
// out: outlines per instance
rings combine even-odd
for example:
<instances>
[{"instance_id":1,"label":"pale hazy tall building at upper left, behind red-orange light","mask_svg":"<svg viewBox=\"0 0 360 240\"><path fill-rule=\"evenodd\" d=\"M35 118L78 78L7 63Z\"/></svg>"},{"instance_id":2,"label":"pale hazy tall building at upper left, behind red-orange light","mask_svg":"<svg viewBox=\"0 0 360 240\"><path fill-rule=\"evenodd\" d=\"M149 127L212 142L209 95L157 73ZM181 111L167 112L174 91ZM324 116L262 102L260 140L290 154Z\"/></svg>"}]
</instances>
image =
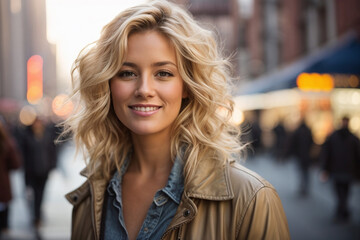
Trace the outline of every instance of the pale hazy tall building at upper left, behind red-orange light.
<instances>
[{"instance_id":1,"label":"pale hazy tall building at upper left, behind red-orange light","mask_svg":"<svg viewBox=\"0 0 360 240\"><path fill-rule=\"evenodd\" d=\"M42 94L56 93L55 46L46 36L45 0L0 1L0 99L27 100L27 61L42 60Z\"/></svg>"}]
</instances>

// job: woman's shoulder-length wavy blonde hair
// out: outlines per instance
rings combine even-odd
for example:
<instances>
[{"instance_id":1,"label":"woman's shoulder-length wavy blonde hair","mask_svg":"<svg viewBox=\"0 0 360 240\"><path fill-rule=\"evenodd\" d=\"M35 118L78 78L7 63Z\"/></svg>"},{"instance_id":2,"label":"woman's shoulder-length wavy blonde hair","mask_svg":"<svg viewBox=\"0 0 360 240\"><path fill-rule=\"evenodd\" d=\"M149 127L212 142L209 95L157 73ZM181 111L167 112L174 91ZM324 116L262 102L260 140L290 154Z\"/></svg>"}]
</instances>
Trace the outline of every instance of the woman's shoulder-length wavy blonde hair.
<instances>
[{"instance_id":1,"label":"woman's shoulder-length wavy blonde hair","mask_svg":"<svg viewBox=\"0 0 360 240\"><path fill-rule=\"evenodd\" d=\"M242 147L239 128L230 122L231 65L221 56L211 31L200 27L185 9L161 0L120 13L73 65L73 97L79 96L80 104L65 122L66 132L86 150L90 172L110 178L132 149L129 130L115 115L109 80L124 61L130 34L147 30L158 31L173 43L188 92L171 135L171 154L173 159L183 156L185 181L203 161L224 164L236 159Z\"/></svg>"}]
</instances>

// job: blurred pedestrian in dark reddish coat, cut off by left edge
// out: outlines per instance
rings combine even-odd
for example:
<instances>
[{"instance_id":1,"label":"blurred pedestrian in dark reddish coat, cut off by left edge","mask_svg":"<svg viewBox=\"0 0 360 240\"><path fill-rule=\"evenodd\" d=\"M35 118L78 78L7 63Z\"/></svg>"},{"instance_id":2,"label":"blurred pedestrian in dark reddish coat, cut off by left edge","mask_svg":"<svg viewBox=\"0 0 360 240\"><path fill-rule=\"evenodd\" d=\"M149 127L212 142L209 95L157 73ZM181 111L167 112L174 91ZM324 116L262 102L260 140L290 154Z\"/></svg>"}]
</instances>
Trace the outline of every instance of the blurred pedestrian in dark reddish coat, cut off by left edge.
<instances>
[{"instance_id":1,"label":"blurred pedestrian in dark reddish coat, cut off by left edge","mask_svg":"<svg viewBox=\"0 0 360 240\"><path fill-rule=\"evenodd\" d=\"M20 158L12 137L0 119L0 230L8 229L9 203L12 199L9 173L20 167ZM0 232L0 236L1 236Z\"/></svg>"}]
</instances>

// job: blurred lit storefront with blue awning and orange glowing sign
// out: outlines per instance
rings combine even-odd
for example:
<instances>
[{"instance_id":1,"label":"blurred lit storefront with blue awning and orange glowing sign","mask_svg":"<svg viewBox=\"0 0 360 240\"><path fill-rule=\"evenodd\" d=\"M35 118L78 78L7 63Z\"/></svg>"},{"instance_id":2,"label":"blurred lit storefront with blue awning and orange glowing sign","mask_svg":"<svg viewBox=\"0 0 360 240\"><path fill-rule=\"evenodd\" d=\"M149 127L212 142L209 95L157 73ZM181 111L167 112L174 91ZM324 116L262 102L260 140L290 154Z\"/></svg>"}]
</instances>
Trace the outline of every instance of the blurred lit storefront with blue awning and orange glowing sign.
<instances>
[{"instance_id":1,"label":"blurred lit storefront with blue awning and orange glowing sign","mask_svg":"<svg viewBox=\"0 0 360 240\"><path fill-rule=\"evenodd\" d=\"M350 130L360 137L360 40L349 35L337 45L244 85L234 100L245 120L259 116L265 146L273 144L275 126L281 123L291 132L301 119L318 145L338 128L344 115L350 118Z\"/></svg>"}]
</instances>

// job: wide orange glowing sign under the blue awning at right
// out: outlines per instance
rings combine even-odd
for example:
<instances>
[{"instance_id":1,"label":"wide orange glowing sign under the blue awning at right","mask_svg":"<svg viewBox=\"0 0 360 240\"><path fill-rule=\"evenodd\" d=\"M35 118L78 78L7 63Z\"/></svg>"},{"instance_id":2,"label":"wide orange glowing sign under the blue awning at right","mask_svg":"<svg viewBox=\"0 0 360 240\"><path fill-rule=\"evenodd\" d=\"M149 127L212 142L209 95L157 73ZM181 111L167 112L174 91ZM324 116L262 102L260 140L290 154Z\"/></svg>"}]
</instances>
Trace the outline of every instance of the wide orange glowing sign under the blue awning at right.
<instances>
[{"instance_id":1,"label":"wide orange glowing sign under the blue awning at right","mask_svg":"<svg viewBox=\"0 0 360 240\"><path fill-rule=\"evenodd\" d=\"M331 91L334 88L334 79L330 74L301 73L296 84L302 91Z\"/></svg>"}]
</instances>

